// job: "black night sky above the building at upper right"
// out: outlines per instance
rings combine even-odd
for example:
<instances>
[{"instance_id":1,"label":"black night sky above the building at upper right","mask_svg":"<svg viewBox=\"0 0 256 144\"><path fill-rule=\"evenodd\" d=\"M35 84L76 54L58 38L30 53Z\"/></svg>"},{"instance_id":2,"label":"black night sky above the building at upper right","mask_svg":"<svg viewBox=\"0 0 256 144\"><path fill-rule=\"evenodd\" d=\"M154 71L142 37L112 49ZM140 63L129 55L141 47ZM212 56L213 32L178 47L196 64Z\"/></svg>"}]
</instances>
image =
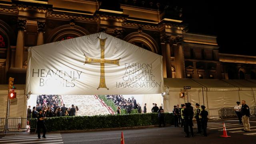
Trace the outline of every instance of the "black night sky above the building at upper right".
<instances>
[{"instance_id":1,"label":"black night sky above the building at upper right","mask_svg":"<svg viewBox=\"0 0 256 144\"><path fill-rule=\"evenodd\" d=\"M184 2L183 18L189 24L188 32L217 36L220 53L256 56L255 4L229 2L232 3Z\"/></svg>"}]
</instances>

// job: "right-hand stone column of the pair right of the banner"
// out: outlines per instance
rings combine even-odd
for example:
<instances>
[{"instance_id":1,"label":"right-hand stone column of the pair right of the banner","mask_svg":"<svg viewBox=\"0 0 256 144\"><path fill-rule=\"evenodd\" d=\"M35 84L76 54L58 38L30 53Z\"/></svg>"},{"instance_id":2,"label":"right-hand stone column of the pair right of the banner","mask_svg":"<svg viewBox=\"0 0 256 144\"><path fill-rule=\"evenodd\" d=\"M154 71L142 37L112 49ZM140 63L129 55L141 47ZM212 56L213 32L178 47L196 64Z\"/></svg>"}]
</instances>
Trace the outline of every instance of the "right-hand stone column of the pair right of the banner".
<instances>
[{"instance_id":1,"label":"right-hand stone column of the pair right of the banner","mask_svg":"<svg viewBox=\"0 0 256 144\"><path fill-rule=\"evenodd\" d=\"M174 42L177 44L177 53L175 56L176 62L176 76L177 78L185 78L185 61L184 61L184 50L182 48L182 37L178 36Z\"/></svg>"}]
</instances>

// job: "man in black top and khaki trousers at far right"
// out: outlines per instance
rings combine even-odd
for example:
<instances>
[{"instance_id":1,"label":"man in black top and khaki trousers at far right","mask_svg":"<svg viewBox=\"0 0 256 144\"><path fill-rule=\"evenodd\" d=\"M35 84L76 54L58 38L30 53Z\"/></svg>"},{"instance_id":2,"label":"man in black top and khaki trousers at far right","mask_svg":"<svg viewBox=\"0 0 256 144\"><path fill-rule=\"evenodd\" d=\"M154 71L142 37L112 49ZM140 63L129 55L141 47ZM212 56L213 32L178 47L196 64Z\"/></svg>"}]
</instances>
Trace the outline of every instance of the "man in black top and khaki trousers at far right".
<instances>
[{"instance_id":1,"label":"man in black top and khaki trousers at far right","mask_svg":"<svg viewBox=\"0 0 256 144\"><path fill-rule=\"evenodd\" d=\"M242 114L242 122L244 124L243 131L250 132L250 123L249 123L250 108L249 106L247 106L245 100L242 100L241 114Z\"/></svg>"}]
</instances>

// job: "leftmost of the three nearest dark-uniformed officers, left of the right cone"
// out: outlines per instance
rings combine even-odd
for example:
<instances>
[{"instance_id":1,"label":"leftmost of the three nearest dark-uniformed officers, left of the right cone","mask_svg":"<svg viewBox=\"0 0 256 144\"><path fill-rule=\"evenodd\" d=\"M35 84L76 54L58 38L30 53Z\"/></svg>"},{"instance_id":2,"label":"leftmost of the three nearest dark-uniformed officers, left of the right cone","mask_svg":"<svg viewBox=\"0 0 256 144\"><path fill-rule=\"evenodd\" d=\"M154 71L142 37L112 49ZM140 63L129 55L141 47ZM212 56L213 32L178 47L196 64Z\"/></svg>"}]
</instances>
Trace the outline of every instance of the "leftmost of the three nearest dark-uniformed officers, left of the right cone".
<instances>
[{"instance_id":1,"label":"leftmost of the three nearest dark-uniformed officers, left of the right cone","mask_svg":"<svg viewBox=\"0 0 256 144\"><path fill-rule=\"evenodd\" d=\"M194 112L193 112L193 107L191 106L190 102L186 104L186 108L183 110L183 115L184 115L184 120L185 120L185 124L184 124L184 128L185 128L185 132L186 132L186 138L189 138L189 130L188 130L188 126L190 127L190 131L191 131L191 136L194 137L194 132L193 132L193 116L194 116Z\"/></svg>"}]
</instances>

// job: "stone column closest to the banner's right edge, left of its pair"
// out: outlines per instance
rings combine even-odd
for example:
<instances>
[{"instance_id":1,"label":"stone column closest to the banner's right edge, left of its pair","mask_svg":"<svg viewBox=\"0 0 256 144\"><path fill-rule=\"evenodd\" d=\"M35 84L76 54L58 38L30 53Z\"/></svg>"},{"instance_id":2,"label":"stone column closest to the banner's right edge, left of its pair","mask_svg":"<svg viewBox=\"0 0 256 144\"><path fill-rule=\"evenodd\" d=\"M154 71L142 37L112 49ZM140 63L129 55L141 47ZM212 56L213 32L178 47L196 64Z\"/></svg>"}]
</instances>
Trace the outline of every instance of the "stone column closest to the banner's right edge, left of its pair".
<instances>
[{"instance_id":1,"label":"stone column closest to the banner's right edge, left of its pair","mask_svg":"<svg viewBox=\"0 0 256 144\"><path fill-rule=\"evenodd\" d=\"M161 43L165 44L165 62L166 62L166 77L172 78L172 66L171 66L171 46L172 46L172 39L170 36L166 34L161 35L160 37Z\"/></svg>"}]
</instances>

